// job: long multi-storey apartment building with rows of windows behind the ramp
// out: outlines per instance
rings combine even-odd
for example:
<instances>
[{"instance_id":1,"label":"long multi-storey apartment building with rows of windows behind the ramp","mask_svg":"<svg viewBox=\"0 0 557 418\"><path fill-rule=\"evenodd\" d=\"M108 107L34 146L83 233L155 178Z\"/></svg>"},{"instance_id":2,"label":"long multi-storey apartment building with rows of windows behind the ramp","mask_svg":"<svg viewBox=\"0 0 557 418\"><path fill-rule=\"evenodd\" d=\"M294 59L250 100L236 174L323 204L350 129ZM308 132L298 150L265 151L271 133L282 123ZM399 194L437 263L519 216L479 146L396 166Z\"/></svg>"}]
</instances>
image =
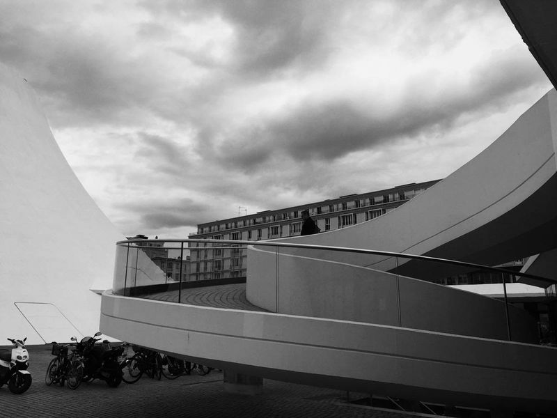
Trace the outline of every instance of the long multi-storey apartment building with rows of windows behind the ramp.
<instances>
[{"instance_id":1,"label":"long multi-storey apartment building with rows of windows behind the ramp","mask_svg":"<svg viewBox=\"0 0 557 418\"><path fill-rule=\"evenodd\" d=\"M439 180L409 183L390 189L349 194L336 199L306 203L252 215L198 224L189 238L213 240L269 240L301 233L301 211L309 210L321 231L333 231L384 215L424 192ZM246 276L246 251L240 246L220 246L210 242L189 243L188 280L226 279Z\"/></svg>"}]
</instances>

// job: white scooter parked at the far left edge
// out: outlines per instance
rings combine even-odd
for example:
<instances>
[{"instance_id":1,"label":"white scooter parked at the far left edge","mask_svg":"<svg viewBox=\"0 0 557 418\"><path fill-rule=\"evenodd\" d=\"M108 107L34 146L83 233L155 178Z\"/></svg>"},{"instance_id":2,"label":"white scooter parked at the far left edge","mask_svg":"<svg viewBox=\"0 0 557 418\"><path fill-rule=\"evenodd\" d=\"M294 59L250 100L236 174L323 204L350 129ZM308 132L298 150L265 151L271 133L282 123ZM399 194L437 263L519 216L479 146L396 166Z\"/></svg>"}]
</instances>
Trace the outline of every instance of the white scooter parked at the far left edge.
<instances>
[{"instance_id":1,"label":"white scooter parked at the far left edge","mask_svg":"<svg viewBox=\"0 0 557 418\"><path fill-rule=\"evenodd\" d=\"M0 350L0 387L5 383L14 394L22 394L31 386L29 367L29 352L24 346L27 338L15 340L8 338L13 344L11 350Z\"/></svg>"}]
</instances>

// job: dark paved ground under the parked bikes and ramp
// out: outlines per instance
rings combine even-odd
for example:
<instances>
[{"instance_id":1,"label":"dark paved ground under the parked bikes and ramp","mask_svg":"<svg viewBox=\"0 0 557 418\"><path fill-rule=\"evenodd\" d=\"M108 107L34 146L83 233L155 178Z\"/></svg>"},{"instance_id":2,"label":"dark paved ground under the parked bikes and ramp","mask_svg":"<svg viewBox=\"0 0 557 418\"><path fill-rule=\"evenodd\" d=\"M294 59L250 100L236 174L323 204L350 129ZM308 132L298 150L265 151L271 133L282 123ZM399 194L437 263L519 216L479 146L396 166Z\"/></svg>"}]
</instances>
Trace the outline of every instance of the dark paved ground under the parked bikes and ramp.
<instances>
[{"instance_id":1,"label":"dark paved ground under the parked bikes and ramp","mask_svg":"<svg viewBox=\"0 0 557 418\"><path fill-rule=\"evenodd\" d=\"M344 393L291 383L264 380L256 396L228 394L222 373L152 380L143 376L134 385L110 388L105 382L82 383L76 390L45 385L50 346L28 347L33 384L21 395L0 388L0 417L367 417L408 418L395 412L344 403Z\"/></svg>"}]
</instances>

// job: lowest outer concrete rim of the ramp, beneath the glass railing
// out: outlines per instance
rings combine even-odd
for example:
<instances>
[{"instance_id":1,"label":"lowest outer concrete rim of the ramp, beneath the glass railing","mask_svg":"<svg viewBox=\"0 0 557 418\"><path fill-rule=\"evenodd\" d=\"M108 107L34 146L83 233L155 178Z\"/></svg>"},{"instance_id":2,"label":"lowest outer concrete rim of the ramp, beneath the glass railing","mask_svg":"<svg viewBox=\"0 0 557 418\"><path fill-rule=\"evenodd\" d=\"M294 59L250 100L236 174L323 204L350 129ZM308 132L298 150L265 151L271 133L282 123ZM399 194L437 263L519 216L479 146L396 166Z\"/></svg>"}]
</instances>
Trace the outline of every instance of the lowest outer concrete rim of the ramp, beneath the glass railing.
<instances>
[{"instance_id":1,"label":"lowest outer concrete rim of the ramp, beneath the glass railing","mask_svg":"<svg viewBox=\"0 0 557 418\"><path fill-rule=\"evenodd\" d=\"M252 376L459 405L557 408L557 352L544 346L111 292L102 295L100 329Z\"/></svg>"}]
</instances>

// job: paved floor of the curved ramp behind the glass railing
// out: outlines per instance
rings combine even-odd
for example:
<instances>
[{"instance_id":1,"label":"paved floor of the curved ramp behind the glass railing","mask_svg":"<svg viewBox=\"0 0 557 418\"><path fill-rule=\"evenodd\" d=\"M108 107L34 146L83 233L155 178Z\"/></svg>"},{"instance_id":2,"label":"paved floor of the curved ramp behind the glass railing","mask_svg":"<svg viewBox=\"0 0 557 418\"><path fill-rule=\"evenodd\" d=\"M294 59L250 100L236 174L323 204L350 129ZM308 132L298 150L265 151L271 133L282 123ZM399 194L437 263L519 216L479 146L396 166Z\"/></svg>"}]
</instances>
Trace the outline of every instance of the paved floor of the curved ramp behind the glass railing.
<instances>
[{"instance_id":1,"label":"paved floor of the curved ramp behind the glass railing","mask_svg":"<svg viewBox=\"0 0 557 418\"><path fill-rule=\"evenodd\" d=\"M146 299L164 300L178 303L178 291L166 291L145 296ZM224 284L219 286L205 286L182 289L180 303L200 307L225 309L241 309L244 311L267 312L266 309L256 307L246 299L246 284Z\"/></svg>"}]
</instances>

